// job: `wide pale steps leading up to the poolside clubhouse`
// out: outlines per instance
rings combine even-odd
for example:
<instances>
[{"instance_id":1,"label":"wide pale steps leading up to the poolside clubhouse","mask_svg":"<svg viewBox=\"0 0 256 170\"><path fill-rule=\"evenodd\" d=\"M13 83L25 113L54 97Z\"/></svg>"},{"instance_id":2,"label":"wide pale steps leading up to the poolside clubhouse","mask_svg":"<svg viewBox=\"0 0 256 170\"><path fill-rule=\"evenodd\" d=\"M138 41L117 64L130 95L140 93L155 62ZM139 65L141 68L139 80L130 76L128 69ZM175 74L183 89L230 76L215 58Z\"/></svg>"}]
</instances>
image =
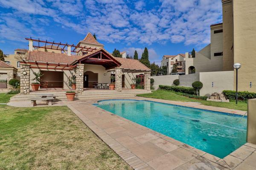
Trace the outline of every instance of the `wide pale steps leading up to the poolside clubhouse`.
<instances>
[{"instance_id":1,"label":"wide pale steps leading up to the poolside clubhouse","mask_svg":"<svg viewBox=\"0 0 256 170\"><path fill-rule=\"evenodd\" d=\"M145 94L151 93L151 91L145 91L143 89L133 89L133 90L124 90L121 92L110 91L110 90L88 90L84 91L82 94L76 95L76 98L80 100L84 99L103 99L103 98L115 98L115 97L132 97L137 94ZM53 94L56 96L56 99L66 101L65 92L38 92L38 93L30 93L28 95L17 94L11 97L10 102L21 102L21 101L29 101L31 98L38 97L40 94Z\"/></svg>"}]
</instances>

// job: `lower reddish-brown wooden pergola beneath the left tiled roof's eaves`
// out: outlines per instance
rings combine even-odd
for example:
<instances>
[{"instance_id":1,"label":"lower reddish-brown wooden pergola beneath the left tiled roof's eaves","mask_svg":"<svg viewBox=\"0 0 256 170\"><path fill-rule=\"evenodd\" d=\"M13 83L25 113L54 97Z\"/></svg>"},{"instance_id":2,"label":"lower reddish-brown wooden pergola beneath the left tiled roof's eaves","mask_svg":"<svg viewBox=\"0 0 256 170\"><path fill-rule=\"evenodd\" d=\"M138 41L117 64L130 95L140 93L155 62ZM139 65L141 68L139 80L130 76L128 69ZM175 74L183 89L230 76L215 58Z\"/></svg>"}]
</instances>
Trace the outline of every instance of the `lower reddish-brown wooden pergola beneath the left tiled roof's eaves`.
<instances>
[{"instance_id":1,"label":"lower reddish-brown wooden pergola beneath the left tiled roof's eaves","mask_svg":"<svg viewBox=\"0 0 256 170\"><path fill-rule=\"evenodd\" d=\"M37 62L37 61L29 61L29 62L20 62L23 64L30 64L30 68L38 68L38 69L50 69L50 70L73 70L76 65L64 64L64 63L49 63L49 62Z\"/></svg>"}]
</instances>

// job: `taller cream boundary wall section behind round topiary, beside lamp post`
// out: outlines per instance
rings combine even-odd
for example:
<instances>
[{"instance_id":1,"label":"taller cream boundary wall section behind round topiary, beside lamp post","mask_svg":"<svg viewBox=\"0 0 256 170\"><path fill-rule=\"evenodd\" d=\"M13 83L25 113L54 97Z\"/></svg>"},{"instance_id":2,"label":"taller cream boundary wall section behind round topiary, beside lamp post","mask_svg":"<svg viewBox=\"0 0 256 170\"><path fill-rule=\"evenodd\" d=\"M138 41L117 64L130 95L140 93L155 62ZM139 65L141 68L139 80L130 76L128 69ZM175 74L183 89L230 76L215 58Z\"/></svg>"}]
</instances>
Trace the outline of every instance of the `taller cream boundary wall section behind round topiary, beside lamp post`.
<instances>
[{"instance_id":1,"label":"taller cream boundary wall section behind round topiary, beside lamp post","mask_svg":"<svg viewBox=\"0 0 256 170\"><path fill-rule=\"evenodd\" d=\"M223 90L233 90L233 71L203 72L199 75L203 88L200 90L201 96L210 96L214 92L221 93ZM213 87L212 87L213 82Z\"/></svg>"}]
</instances>

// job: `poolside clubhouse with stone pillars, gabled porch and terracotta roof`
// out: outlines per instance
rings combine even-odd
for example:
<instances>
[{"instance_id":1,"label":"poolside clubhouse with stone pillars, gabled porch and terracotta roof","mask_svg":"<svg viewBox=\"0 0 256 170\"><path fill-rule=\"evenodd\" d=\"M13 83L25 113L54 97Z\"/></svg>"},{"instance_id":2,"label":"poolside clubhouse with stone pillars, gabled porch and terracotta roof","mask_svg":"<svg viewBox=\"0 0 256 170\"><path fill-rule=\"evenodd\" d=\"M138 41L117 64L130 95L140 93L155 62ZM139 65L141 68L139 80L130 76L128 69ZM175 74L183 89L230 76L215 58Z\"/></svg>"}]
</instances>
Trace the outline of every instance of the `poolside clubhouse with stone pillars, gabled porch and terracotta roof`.
<instances>
[{"instance_id":1,"label":"poolside clubhouse with stone pillars, gabled porch and terracotta roof","mask_svg":"<svg viewBox=\"0 0 256 170\"><path fill-rule=\"evenodd\" d=\"M90 33L77 45L26 40L29 51L20 62L21 94L29 94L33 73L39 71L44 74L40 88L70 89L68 78L76 75L76 91L81 93L84 88L93 88L95 83L111 83L113 75L116 91L131 88L136 77L141 78L145 90L150 90L149 68L136 59L113 57Z\"/></svg>"}]
</instances>

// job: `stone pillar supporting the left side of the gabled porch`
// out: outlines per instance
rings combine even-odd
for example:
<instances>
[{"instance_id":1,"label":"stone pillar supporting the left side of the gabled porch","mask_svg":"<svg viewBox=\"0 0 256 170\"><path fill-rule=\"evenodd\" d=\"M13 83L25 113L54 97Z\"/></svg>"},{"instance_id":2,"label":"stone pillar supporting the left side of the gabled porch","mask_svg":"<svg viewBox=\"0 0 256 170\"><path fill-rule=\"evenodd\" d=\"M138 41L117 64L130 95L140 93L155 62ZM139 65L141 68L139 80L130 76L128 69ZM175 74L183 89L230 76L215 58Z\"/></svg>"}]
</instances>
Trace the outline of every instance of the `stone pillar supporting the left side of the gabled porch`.
<instances>
[{"instance_id":1,"label":"stone pillar supporting the left side of the gabled porch","mask_svg":"<svg viewBox=\"0 0 256 170\"><path fill-rule=\"evenodd\" d=\"M76 65L76 93L81 94L84 91L84 64Z\"/></svg>"}]
</instances>

